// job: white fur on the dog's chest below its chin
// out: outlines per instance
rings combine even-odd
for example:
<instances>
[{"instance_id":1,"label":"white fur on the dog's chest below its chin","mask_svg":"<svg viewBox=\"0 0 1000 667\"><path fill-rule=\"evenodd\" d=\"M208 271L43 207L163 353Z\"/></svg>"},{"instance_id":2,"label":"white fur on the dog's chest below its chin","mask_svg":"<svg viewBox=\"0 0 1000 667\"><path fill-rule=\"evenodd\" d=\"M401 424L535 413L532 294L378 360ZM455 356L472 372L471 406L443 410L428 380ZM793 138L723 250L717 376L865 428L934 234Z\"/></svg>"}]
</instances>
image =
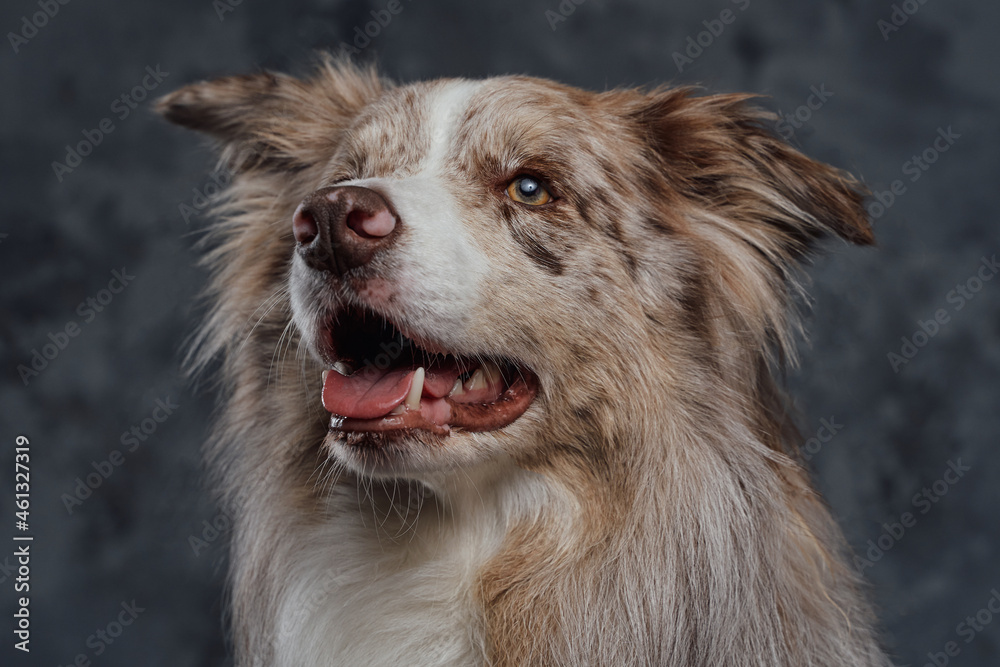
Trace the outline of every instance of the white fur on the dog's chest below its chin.
<instances>
[{"instance_id":1,"label":"white fur on the dog's chest below its chin","mask_svg":"<svg viewBox=\"0 0 1000 667\"><path fill-rule=\"evenodd\" d=\"M286 585L274 664L483 665L477 575L518 507L543 492L541 479L524 471L499 486L469 478L448 489L444 507L425 503L419 519L413 503L386 520L354 490L334 491L331 520L302 529L297 556L277 573Z\"/></svg>"}]
</instances>

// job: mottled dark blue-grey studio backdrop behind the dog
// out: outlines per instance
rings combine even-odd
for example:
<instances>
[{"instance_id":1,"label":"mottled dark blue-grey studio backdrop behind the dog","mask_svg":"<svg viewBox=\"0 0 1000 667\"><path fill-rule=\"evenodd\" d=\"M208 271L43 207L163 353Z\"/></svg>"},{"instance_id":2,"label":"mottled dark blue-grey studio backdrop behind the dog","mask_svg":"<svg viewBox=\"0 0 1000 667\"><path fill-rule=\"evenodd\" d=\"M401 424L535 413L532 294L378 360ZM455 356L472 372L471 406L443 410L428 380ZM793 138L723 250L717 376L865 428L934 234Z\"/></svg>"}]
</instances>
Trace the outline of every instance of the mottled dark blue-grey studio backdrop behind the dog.
<instances>
[{"instance_id":1,"label":"mottled dark blue-grey studio backdrop behind the dog","mask_svg":"<svg viewBox=\"0 0 1000 667\"><path fill-rule=\"evenodd\" d=\"M0 29L20 31L36 1L4 2ZM301 71L312 49L352 39L385 5L76 0L17 53L9 36L0 45L0 534L13 532L13 439L24 433L36 536L33 650L11 649L12 579L0 569L0 663L68 665L79 654L99 665L224 663L223 540L198 555L189 543L216 516L198 455L213 397L177 370L205 278L191 250L205 221L185 221L179 207L196 203L211 162L195 136L155 118L148 100L123 120L111 104L147 66L168 72L156 94L259 67ZM861 553L883 523L916 515L866 568L898 662L923 665L956 641L950 664L996 665L1000 619L968 643L958 625L1000 587L1000 280L961 310L948 293L1000 251L1000 6L919 6L884 39L878 21L890 18L889 0L749 0L745 11L728 0L584 0L555 29L545 12L558 11L558 0L403 0L362 57L404 81L518 72L598 89L701 82L769 95L766 104L786 114L812 86L832 92L796 143L876 190L904 179L906 191L878 219L877 250L834 246L811 271L812 342L791 384L807 433L821 419L843 425L813 456L816 478ZM735 21L678 72L672 54L725 8ZM60 181L52 163L104 117L114 132ZM911 182L904 164L949 127L960 137ZM78 304L122 267L134 281L83 322ZM950 322L894 372L887 354L938 309ZM69 321L80 334L25 386L17 365ZM180 407L69 514L63 494L167 397ZM971 469L920 514L914 494L959 458ZM0 565L12 551L0 547ZM88 637L133 600L144 611L96 656Z\"/></svg>"}]
</instances>

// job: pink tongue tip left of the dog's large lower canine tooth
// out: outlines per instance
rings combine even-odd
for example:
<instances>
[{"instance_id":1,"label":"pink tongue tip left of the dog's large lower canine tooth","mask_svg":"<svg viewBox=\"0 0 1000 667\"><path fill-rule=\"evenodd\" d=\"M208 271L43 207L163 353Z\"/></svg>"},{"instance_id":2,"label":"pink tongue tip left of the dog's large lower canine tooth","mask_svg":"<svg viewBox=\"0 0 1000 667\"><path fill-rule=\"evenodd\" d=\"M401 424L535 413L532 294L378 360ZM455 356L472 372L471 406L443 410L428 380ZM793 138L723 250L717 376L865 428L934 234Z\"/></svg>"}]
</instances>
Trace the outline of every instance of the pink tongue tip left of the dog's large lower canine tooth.
<instances>
[{"instance_id":1,"label":"pink tongue tip left of the dog's large lower canine tooth","mask_svg":"<svg viewBox=\"0 0 1000 667\"><path fill-rule=\"evenodd\" d=\"M406 398L414 372L412 368L377 371L370 366L351 376L330 371L323 383L323 407L342 417L382 417Z\"/></svg>"}]
</instances>

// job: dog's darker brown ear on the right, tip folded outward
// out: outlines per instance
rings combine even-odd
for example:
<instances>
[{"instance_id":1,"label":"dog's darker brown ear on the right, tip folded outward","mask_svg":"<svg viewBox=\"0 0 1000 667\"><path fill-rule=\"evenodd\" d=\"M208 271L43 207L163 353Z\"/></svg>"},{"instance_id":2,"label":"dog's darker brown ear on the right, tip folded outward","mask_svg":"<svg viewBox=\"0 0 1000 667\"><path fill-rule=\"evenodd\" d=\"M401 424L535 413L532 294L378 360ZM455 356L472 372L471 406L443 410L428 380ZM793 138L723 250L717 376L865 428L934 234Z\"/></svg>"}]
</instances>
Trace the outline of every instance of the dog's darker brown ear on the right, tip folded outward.
<instances>
[{"instance_id":1,"label":"dog's darker brown ear on the right, tip folded outward","mask_svg":"<svg viewBox=\"0 0 1000 667\"><path fill-rule=\"evenodd\" d=\"M735 223L768 256L799 258L825 236L871 245L865 188L775 136L750 95L654 91L631 112L671 190Z\"/></svg>"}]
</instances>

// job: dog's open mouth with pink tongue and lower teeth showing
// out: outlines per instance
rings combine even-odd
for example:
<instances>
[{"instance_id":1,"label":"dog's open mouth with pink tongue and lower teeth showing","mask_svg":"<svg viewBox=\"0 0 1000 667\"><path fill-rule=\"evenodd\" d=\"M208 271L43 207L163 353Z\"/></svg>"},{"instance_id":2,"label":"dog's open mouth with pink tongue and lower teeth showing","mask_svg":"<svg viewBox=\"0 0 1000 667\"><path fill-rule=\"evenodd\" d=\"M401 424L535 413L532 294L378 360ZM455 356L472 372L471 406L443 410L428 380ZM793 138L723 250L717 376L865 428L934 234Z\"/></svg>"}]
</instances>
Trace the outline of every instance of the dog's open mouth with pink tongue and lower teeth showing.
<instances>
[{"instance_id":1,"label":"dog's open mouth with pink tongue and lower teeth showing","mask_svg":"<svg viewBox=\"0 0 1000 667\"><path fill-rule=\"evenodd\" d=\"M326 334L323 407L333 431L492 431L524 414L538 393L537 376L523 365L421 346L372 311L342 311Z\"/></svg>"}]
</instances>

